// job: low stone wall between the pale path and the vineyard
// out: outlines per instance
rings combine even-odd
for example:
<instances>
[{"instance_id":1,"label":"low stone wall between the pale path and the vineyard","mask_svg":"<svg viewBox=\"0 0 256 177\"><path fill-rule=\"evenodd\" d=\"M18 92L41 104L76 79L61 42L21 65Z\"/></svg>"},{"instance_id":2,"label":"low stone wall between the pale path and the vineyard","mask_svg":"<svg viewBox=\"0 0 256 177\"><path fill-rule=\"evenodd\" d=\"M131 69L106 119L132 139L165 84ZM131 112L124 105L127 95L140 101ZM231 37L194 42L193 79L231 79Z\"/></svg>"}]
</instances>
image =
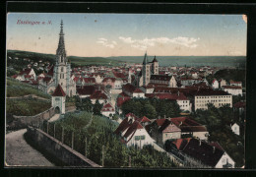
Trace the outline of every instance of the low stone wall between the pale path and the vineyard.
<instances>
[{"instance_id":1,"label":"low stone wall between the pale path and the vineyard","mask_svg":"<svg viewBox=\"0 0 256 177\"><path fill-rule=\"evenodd\" d=\"M69 148L39 129L29 127L27 135L36 146L45 149L49 154L63 161L68 166L100 167L78 151Z\"/></svg>"}]
</instances>

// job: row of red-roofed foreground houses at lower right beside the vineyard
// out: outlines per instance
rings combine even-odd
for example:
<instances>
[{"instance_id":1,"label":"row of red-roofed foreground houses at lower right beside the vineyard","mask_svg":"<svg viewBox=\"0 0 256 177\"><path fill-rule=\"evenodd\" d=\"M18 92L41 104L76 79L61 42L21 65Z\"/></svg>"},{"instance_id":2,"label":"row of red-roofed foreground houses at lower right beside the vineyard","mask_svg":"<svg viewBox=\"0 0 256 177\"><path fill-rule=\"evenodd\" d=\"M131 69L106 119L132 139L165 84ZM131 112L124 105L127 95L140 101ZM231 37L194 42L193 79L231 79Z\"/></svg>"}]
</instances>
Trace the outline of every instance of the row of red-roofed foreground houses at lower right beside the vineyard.
<instances>
[{"instance_id":1,"label":"row of red-roofed foreground houses at lower right beside the vineyard","mask_svg":"<svg viewBox=\"0 0 256 177\"><path fill-rule=\"evenodd\" d=\"M208 142L209 133L189 117L150 120L128 113L114 134L127 147L158 144L186 167L233 168L235 162L218 142Z\"/></svg>"}]
</instances>

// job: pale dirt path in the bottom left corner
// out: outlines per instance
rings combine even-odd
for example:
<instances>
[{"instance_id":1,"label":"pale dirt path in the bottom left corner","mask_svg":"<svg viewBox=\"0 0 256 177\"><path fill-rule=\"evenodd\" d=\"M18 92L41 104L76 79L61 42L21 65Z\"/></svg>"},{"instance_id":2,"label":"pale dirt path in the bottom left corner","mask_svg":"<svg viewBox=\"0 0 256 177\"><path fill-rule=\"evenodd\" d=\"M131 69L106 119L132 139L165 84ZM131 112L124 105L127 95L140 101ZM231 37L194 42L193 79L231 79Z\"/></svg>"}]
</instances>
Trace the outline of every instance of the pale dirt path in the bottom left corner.
<instances>
[{"instance_id":1,"label":"pale dirt path in the bottom left corner","mask_svg":"<svg viewBox=\"0 0 256 177\"><path fill-rule=\"evenodd\" d=\"M7 166L54 166L24 139L26 129L6 135L5 159Z\"/></svg>"}]
</instances>

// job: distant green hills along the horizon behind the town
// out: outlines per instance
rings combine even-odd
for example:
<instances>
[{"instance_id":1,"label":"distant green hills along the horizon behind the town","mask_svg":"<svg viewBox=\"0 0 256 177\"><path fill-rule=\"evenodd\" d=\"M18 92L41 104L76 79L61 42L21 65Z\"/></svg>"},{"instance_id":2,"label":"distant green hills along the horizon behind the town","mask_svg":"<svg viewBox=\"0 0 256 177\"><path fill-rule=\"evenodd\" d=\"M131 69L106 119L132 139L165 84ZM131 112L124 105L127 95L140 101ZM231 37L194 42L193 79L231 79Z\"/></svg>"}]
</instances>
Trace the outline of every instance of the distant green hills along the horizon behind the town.
<instances>
[{"instance_id":1,"label":"distant green hills along the horizon behind the town","mask_svg":"<svg viewBox=\"0 0 256 177\"><path fill-rule=\"evenodd\" d=\"M8 50L7 56L30 58L55 63L54 54L43 54L29 51ZM148 56L152 61L154 56ZM126 63L142 63L144 56L117 56L117 57L78 57L68 56L74 66L83 65L120 65ZM246 56L157 56L160 66L212 66L245 68ZM9 61L8 61L9 62ZM7 62L7 64L8 64ZM17 62L17 61L16 61Z\"/></svg>"}]
</instances>

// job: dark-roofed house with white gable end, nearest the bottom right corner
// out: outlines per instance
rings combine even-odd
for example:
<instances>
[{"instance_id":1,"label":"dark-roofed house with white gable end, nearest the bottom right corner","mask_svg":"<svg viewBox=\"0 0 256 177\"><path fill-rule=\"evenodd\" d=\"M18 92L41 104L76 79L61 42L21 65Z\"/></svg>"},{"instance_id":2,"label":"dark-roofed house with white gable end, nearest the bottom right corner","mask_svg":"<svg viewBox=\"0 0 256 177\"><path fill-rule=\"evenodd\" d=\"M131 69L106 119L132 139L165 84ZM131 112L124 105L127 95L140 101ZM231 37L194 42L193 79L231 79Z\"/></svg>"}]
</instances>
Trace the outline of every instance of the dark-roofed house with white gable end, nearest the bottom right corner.
<instances>
[{"instance_id":1,"label":"dark-roofed house with white gable end, nearest the bottom right corner","mask_svg":"<svg viewBox=\"0 0 256 177\"><path fill-rule=\"evenodd\" d=\"M234 168L235 162L217 142L207 143L194 138L177 139L165 149L179 155L187 166L198 168Z\"/></svg>"}]
</instances>

